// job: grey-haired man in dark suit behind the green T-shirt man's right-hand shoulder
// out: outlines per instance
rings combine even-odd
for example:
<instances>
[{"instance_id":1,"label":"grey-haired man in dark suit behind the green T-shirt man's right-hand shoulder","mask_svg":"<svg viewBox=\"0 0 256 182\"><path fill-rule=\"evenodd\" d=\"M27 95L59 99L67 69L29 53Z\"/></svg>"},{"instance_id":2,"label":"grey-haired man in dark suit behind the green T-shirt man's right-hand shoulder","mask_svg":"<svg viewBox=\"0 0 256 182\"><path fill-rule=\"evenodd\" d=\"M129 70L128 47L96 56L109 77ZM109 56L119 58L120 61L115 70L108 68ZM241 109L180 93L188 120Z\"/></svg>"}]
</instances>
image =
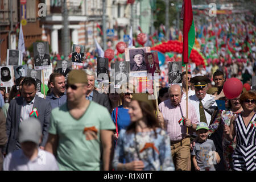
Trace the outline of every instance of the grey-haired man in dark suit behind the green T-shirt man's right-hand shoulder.
<instances>
[{"instance_id":1,"label":"grey-haired man in dark suit behind the green T-shirt man's right-hand shoulder","mask_svg":"<svg viewBox=\"0 0 256 182\"><path fill-rule=\"evenodd\" d=\"M85 70L88 79L88 92L86 93L86 99L90 101L97 102L98 104L105 106L109 113L111 112L111 106L109 102L109 97L105 93L99 93L96 89L94 89L95 84L95 73L90 71L89 69Z\"/></svg>"}]
</instances>

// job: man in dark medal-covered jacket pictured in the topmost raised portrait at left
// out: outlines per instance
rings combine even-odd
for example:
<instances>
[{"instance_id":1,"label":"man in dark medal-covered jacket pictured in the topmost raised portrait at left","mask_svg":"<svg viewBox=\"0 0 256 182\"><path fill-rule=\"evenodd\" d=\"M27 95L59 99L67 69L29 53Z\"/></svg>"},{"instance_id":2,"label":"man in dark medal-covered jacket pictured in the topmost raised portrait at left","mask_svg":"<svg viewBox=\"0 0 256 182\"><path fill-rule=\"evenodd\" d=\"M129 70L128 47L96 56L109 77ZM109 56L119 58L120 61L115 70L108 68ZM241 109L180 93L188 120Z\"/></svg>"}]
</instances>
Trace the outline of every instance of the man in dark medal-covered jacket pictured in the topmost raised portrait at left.
<instances>
[{"instance_id":1,"label":"man in dark medal-covered jacket pictured in the topmost raised portrait at left","mask_svg":"<svg viewBox=\"0 0 256 182\"><path fill-rule=\"evenodd\" d=\"M35 56L35 67L51 65L50 56L45 52L44 43L39 42L36 44L38 55Z\"/></svg>"}]
</instances>

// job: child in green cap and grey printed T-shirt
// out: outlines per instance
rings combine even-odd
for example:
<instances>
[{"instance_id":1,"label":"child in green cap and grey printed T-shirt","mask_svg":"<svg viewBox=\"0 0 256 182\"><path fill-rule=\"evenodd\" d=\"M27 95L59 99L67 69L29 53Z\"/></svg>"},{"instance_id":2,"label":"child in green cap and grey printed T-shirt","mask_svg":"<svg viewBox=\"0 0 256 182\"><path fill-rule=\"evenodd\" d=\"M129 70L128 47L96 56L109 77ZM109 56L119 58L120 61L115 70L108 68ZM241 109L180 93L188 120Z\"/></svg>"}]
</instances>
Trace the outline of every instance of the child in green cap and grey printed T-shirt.
<instances>
[{"instance_id":1,"label":"child in green cap and grey printed T-shirt","mask_svg":"<svg viewBox=\"0 0 256 182\"><path fill-rule=\"evenodd\" d=\"M191 152L192 161L196 171L215 171L214 164L220 162L213 140L208 139L209 127L207 123L200 122L196 127L198 140Z\"/></svg>"}]
</instances>

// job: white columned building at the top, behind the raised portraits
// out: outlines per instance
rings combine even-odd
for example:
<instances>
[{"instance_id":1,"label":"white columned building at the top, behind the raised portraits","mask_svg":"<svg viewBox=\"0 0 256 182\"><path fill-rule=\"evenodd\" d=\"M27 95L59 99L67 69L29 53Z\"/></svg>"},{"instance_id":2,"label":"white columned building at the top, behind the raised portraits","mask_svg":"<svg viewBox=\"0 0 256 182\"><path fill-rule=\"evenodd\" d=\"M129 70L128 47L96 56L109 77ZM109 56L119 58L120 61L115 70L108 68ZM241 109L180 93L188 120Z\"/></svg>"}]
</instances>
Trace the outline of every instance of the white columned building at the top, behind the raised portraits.
<instances>
[{"instance_id":1,"label":"white columned building at the top, behind the raised portraits","mask_svg":"<svg viewBox=\"0 0 256 182\"><path fill-rule=\"evenodd\" d=\"M48 41L53 53L61 52L62 0L46 0L47 15L42 18L42 40ZM95 49L94 37L102 44L102 0L67 0L69 10L69 30L72 44L84 45L85 49ZM123 35L129 34L131 25L131 5L127 0L105 0L106 3L106 29L114 29L114 36L107 36L112 48ZM149 2L148 2L149 3ZM140 2L135 1L133 9L133 34L138 34ZM87 50L86 50L87 51Z\"/></svg>"}]
</instances>

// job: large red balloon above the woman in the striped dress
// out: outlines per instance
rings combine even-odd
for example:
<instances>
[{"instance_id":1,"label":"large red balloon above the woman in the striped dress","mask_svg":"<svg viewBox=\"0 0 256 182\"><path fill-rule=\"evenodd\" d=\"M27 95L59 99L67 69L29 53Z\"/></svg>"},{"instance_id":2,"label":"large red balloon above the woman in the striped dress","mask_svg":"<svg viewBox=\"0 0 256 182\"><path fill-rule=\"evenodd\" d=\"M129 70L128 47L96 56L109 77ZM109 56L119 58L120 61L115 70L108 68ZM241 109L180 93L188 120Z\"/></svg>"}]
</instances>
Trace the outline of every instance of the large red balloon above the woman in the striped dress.
<instances>
[{"instance_id":1,"label":"large red balloon above the woman in the striped dress","mask_svg":"<svg viewBox=\"0 0 256 182\"><path fill-rule=\"evenodd\" d=\"M238 78L229 78L223 85L223 92L228 99L238 97L243 90L243 84Z\"/></svg>"}]
</instances>

